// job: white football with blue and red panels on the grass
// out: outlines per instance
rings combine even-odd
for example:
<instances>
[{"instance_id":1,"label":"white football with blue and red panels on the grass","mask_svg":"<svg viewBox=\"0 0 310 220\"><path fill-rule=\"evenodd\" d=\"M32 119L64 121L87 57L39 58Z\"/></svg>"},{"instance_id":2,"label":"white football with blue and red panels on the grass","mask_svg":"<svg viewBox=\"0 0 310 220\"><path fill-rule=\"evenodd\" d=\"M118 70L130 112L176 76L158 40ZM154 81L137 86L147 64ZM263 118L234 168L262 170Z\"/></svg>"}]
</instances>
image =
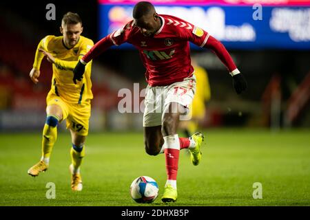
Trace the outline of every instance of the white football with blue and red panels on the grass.
<instances>
[{"instance_id":1,"label":"white football with blue and red panels on the grass","mask_svg":"<svg viewBox=\"0 0 310 220\"><path fill-rule=\"evenodd\" d=\"M158 197L158 184L151 177L137 177L130 185L130 195L137 203L152 203Z\"/></svg>"}]
</instances>

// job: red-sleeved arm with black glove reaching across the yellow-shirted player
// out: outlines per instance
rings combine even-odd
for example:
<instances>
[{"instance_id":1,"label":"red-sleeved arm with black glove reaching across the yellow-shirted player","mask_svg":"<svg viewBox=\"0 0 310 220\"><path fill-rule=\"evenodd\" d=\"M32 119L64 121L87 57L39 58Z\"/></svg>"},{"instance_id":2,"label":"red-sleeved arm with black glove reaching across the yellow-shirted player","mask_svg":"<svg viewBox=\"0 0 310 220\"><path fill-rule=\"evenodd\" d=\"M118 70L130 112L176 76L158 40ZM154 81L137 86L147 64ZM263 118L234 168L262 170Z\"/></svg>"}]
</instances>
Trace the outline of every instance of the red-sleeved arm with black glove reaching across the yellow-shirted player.
<instances>
[{"instance_id":1,"label":"red-sleeved arm with black glove reaching across the yellow-shirted player","mask_svg":"<svg viewBox=\"0 0 310 220\"><path fill-rule=\"evenodd\" d=\"M73 83L76 84L76 80L81 81L83 78L83 74L85 72L85 65L88 62L92 61L96 56L99 56L101 53L105 52L109 47L114 45L110 40L109 36L105 36L105 38L98 41L85 56L83 56L76 66L73 69Z\"/></svg>"}]
</instances>

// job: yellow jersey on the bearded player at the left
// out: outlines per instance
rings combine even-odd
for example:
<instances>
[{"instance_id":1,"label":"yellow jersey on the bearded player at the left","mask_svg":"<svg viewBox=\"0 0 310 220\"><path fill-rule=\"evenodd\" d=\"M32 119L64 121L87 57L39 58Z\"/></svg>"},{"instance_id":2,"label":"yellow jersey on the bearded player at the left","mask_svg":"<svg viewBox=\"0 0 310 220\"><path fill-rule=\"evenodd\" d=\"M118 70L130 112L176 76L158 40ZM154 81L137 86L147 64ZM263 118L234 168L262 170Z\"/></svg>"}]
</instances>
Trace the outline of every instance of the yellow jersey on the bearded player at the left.
<instances>
[{"instance_id":1,"label":"yellow jersey on the bearded player at the left","mask_svg":"<svg viewBox=\"0 0 310 220\"><path fill-rule=\"evenodd\" d=\"M39 49L45 50L54 56L55 63L52 65L52 86L49 95L60 96L62 100L70 104L81 104L92 100L92 82L90 80L92 62L87 63L85 74L81 82L73 83L72 70L79 59L84 56L94 42L84 36L80 36L79 42L72 48L63 43L63 36L48 35L42 39L37 47L33 67L40 69L44 54Z\"/></svg>"}]
</instances>

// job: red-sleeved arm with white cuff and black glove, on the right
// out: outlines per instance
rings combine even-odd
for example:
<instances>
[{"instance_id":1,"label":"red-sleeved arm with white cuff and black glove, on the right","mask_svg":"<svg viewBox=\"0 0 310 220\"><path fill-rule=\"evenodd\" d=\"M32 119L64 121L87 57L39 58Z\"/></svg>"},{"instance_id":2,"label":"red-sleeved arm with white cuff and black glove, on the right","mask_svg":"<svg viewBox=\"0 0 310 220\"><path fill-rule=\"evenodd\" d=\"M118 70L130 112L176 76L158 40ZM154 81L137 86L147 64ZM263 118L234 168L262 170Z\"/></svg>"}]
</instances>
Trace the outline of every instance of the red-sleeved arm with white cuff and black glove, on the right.
<instances>
[{"instance_id":1,"label":"red-sleeved arm with white cuff and black glove, on the right","mask_svg":"<svg viewBox=\"0 0 310 220\"><path fill-rule=\"evenodd\" d=\"M213 36L209 36L209 39L207 39L205 47L212 50L216 54L216 56L220 58L220 61L224 63L227 69L229 69L229 74L233 78L233 85L237 94L240 94L242 91L245 91L245 89L247 89L247 81L245 80L245 77L237 69L234 61L232 60L231 56L227 52L224 45L220 43L220 41L216 40Z\"/></svg>"}]
</instances>

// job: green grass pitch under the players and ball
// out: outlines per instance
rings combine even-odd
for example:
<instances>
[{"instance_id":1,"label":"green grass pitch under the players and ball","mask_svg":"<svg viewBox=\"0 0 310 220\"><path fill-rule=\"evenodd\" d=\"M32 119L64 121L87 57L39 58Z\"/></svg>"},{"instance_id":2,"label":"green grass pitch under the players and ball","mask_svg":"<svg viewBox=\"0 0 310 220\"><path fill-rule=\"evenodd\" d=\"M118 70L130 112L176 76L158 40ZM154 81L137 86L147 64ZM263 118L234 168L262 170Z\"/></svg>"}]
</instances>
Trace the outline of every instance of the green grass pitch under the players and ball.
<instances>
[{"instance_id":1,"label":"green grass pitch under the players and ball","mask_svg":"<svg viewBox=\"0 0 310 220\"><path fill-rule=\"evenodd\" d=\"M165 158L145 153L142 132L90 133L82 192L70 188L68 132L59 134L49 170L35 178L27 174L41 156L40 133L0 135L0 206L167 206L160 199ZM309 130L211 129L205 136L199 166L180 152L178 201L169 206L310 205ZM152 204L130 197L130 184L139 175L158 182ZM56 186L56 199L45 197L48 182ZM254 182L262 184L262 199L252 196Z\"/></svg>"}]
</instances>

